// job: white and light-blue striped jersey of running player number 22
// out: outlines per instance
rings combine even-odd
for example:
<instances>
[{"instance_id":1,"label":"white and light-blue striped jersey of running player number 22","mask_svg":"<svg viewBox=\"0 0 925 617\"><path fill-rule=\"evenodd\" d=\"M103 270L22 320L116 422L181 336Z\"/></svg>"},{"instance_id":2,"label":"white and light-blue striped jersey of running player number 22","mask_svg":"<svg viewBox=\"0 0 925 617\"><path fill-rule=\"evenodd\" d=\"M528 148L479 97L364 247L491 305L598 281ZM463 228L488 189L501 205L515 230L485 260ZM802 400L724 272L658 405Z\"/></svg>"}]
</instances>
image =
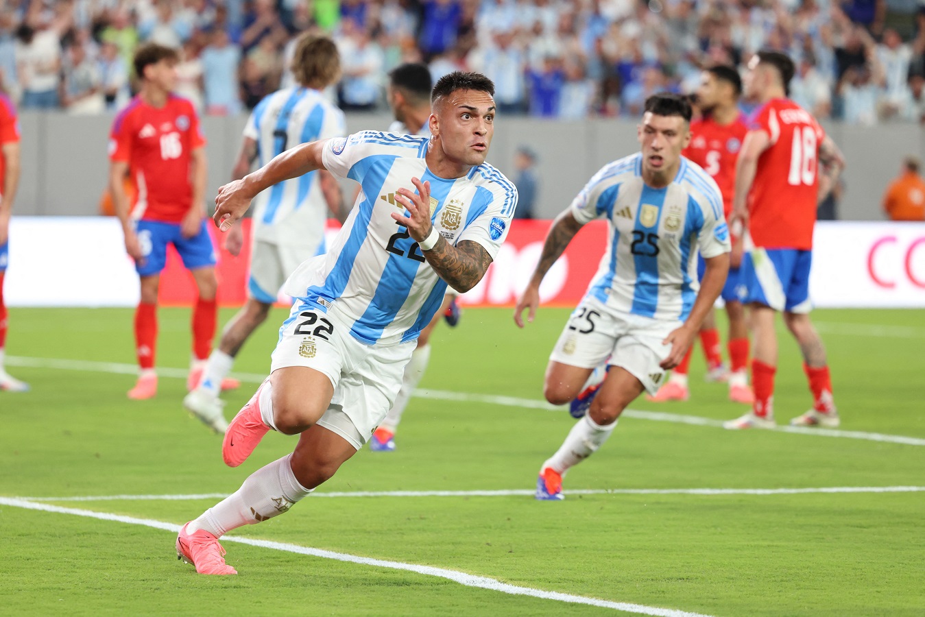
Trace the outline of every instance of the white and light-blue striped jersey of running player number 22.
<instances>
[{"instance_id":1,"label":"white and light-blue striped jersey of running player number 22","mask_svg":"<svg viewBox=\"0 0 925 617\"><path fill-rule=\"evenodd\" d=\"M511 227L513 183L487 164L462 178L438 178L427 169L428 142L364 131L330 140L324 149L327 170L356 180L363 190L327 254L302 264L286 291L368 344L417 339L447 289L408 229L390 216L405 212L395 191L413 191L413 178L429 181L431 220L439 234L452 245L477 242L492 259Z\"/></svg>"}]
</instances>

